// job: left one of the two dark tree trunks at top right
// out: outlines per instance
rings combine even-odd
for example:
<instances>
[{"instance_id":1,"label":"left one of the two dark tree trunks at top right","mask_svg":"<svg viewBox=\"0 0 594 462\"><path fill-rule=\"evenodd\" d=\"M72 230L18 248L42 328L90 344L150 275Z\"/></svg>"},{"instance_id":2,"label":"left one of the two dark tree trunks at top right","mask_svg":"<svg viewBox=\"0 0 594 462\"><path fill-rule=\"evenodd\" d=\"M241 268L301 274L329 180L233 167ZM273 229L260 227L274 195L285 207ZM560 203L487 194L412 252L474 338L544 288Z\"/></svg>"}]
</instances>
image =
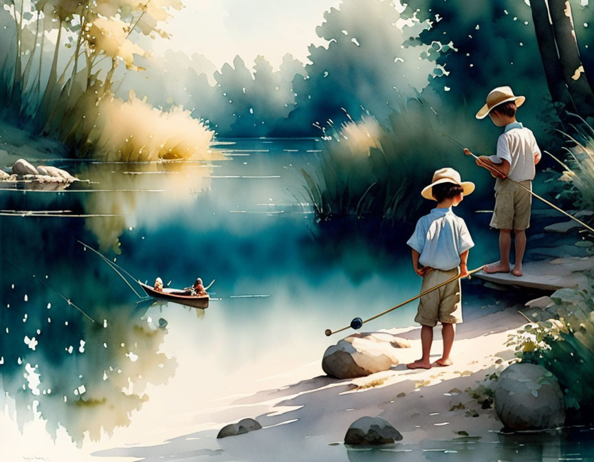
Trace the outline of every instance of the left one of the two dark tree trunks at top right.
<instances>
[{"instance_id":1,"label":"left one of the two dark tree trunks at top right","mask_svg":"<svg viewBox=\"0 0 594 462\"><path fill-rule=\"evenodd\" d=\"M559 62L555 33L553 32L553 25L549 20L547 0L531 0L530 6L538 50L540 50L540 58L542 59L544 75L547 78L551 98L553 98L553 102L562 103L566 110L576 112L577 109L567 89L563 69Z\"/></svg>"}]
</instances>

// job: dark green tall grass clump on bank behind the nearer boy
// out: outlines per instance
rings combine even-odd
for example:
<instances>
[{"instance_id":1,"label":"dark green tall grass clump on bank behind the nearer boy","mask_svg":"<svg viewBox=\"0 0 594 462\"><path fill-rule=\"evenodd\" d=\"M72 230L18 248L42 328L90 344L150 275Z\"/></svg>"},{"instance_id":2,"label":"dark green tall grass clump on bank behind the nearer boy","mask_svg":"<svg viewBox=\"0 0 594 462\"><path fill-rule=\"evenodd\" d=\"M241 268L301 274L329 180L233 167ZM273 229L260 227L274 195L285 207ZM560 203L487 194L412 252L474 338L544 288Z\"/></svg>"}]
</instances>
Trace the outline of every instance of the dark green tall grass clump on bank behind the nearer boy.
<instances>
[{"instance_id":1,"label":"dark green tall grass clump on bank behind the nearer boy","mask_svg":"<svg viewBox=\"0 0 594 462\"><path fill-rule=\"evenodd\" d=\"M443 129L454 133L456 127L418 100L393 113L389 126L370 115L338 130L330 124L318 164L301 170L318 221L373 217L394 224L412 219L434 170L472 168L461 149L441 136Z\"/></svg>"}]
</instances>

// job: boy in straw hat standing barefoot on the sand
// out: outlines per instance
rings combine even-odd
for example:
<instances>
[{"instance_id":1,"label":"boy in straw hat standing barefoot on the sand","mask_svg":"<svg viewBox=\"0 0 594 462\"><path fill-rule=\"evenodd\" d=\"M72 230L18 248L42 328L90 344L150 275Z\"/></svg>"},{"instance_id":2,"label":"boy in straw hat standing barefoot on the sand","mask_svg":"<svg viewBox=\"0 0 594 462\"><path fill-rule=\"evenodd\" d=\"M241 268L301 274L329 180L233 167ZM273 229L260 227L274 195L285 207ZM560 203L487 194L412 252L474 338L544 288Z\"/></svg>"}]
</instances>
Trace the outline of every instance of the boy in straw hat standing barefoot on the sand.
<instances>
[{"instance_id":1,"label":"boy in straw hat standing barefoot on the sand","mask_svg":"<svg viewBox=\"0 0 594 462\"><path fill-rule=\"evenodd\" d=\"M466 223L452 212L464 198L474 191L474 184L461 181L453 168L440 168L433 174L432 183L421 191L425 199L437 201L437 207L417 222L407 245L412 248L412 265L423 278L421 292L444 283L455 276L466 276L468 251L474 246ZM423 295L415 322L421 327L422 356L406 364L408 369L430 369L432 365L449 366L454 343L454 324L462 322L460 279ZM433 327L441 322L443 355L430 362Z\"/></svg>"}]
</instances>

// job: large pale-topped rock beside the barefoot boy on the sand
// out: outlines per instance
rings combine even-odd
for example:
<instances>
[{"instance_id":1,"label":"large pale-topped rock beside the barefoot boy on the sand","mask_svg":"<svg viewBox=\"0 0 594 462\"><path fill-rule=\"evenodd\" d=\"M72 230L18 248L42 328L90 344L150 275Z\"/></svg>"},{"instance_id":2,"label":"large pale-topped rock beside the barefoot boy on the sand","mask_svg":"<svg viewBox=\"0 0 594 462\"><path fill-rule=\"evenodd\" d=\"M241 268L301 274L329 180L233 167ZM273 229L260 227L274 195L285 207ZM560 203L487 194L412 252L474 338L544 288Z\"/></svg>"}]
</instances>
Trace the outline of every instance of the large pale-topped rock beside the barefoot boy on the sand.
<instances>
[{"instance_id":1,"label":"large pale-topped rock beside the barefoot boy on the sand","mask_svg":"<svg viewBox=\"0 0 594 462\"><path fill-rule=\"evenodd\" d=\"M364 377L398 364L398 350L409 347L408 340L389 332L353 333L326 349L322 369L337 379Z\"/></svg>"}]
</instances>

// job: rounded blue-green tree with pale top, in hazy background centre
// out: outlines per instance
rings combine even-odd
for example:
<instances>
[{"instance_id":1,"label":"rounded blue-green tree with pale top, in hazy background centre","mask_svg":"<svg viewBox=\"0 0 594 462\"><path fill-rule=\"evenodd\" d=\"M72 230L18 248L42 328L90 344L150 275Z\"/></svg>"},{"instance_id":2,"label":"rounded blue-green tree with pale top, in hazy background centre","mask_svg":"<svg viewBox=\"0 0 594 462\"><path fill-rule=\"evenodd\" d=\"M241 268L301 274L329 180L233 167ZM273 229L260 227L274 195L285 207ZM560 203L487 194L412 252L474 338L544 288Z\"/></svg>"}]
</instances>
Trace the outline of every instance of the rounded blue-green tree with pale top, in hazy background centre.
<instances>
[{"instance_id":1,"label":"rounded blue-green tree with pale top, in hazy background centre","mask_svg":"<svg viewBox=\"0 0 594 462\"><path fill-rule=\"evenodd\" d=\"M324 19L316 33L327 47L311 45L307 78L294 80L297 109L291 117L305 126L344 120L343 110L355 117L363 109L385 120L434 75L434 63L421 59L428 47L405 46L409 34L424 26L401 19L392 1L345 0Z\"/></svg>"}]
</instances>

